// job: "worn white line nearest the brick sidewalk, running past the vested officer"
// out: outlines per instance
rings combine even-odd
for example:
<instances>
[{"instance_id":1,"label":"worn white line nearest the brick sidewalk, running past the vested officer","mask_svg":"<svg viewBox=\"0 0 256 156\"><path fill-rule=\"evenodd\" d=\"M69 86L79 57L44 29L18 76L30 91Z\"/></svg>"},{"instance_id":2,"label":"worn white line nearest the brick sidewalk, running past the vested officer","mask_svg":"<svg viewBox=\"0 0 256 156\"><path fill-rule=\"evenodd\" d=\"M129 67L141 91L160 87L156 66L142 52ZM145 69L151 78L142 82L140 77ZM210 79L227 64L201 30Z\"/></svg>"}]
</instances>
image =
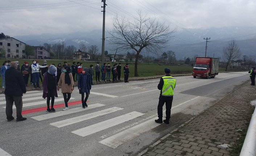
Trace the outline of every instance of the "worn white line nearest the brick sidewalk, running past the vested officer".
<instances>
[{"instance_id":1,"label":"worn white line nearest the brick sidewalk, running past the vested officer","mask_svg":"<svg viewBox=\"0 0 256 156\"><path fill-rule=\"evenodd\" d=\"M188 101L183 102L177 106L174 106L174 107L172 107L172 109L174 109L175 107L181 106L183 104L186 104L187 102L190 102L192 100L195 100L196 98L198 98L198 97L195 97L191 100L188 100ZM111 147L111 148L117 148L118 146L132 140L133 138L136 138L137 136L139 136L157 126L160 126L161 124L154 122L155 119L158 119L158 117L150 119L149 121L140 123L137 126L129 128L129 129L122 131L120 133L117 133L115 135L112 135L109 138L100 141L99 143L106 145L108 147Z\"/></svg>"}]
</instances>

